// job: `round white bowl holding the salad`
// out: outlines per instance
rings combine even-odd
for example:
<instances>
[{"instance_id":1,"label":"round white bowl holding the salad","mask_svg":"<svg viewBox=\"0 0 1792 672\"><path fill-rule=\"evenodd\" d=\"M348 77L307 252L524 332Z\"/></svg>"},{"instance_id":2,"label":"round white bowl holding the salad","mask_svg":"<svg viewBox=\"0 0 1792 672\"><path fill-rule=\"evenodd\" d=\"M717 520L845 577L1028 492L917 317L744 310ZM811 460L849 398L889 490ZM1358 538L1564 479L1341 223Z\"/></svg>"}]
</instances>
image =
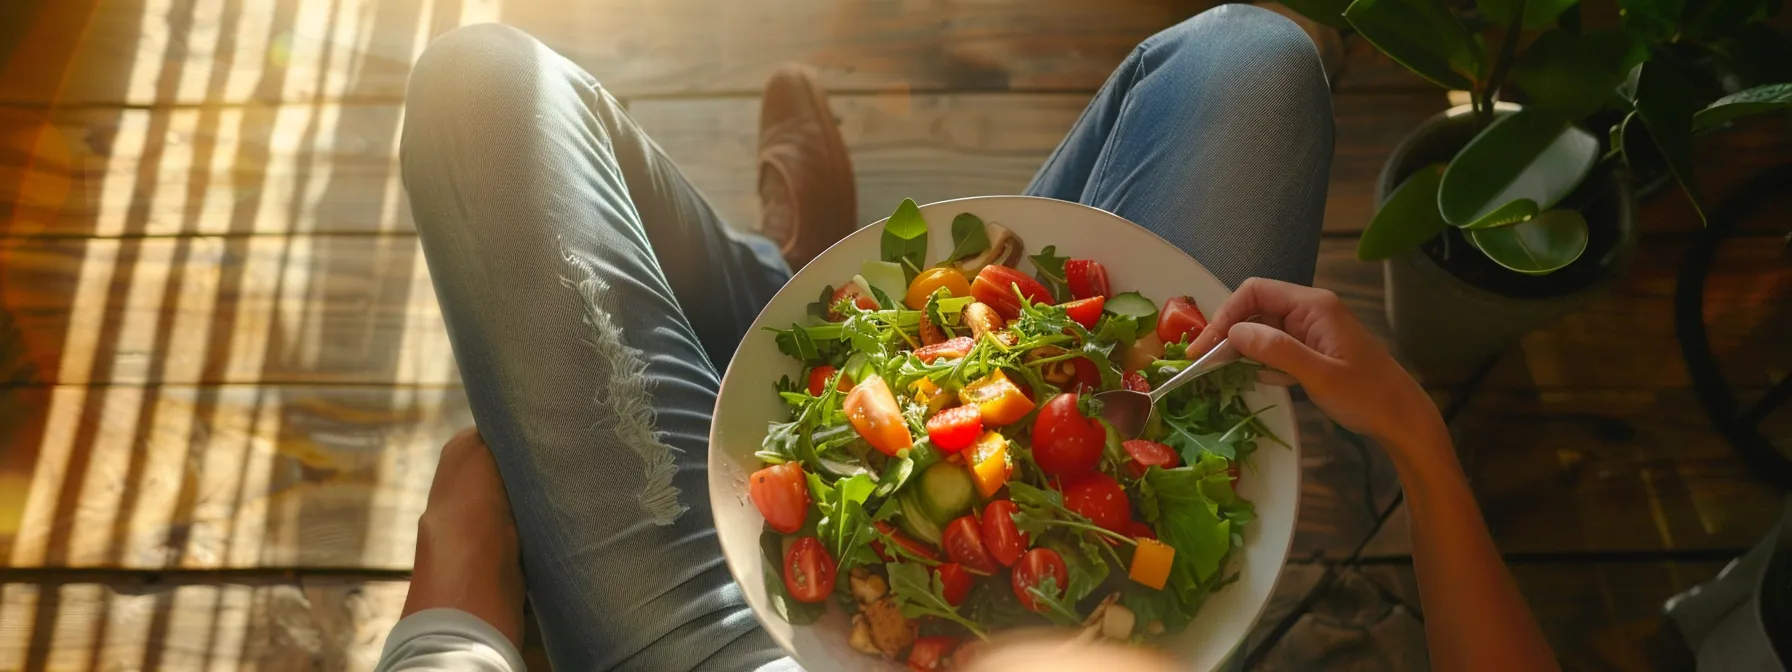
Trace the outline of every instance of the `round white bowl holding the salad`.
<instances>
[{"instance_id":1,"label":"round white bowl holding the salad","mask_svg":"<svg viewBox=\"0 0 1792 672\"><path fill-rule=\"evenodd\" d=\"M894 206L892 202L891 210ZM1045 246L1057 246L1063 256L1102 262L1116 292L1138 290L1159 303L1186 294L1195 297L1206 314L1231 296L1231 290L1208 269L1145 228L1102 210L1054 199L987 195L921 206L928 224L928 260L937 262L952 253L952 219L966 211L1014 231L1027 244L1027 254ZM903 670L905 667L900 661L885 663L853 650L846 643L848 615L839 606L830 604L828 616L814 625L790 625L772 609L765 593L760 554L765 520L747 500L747 475L760 470L753 452L765 439L767 423L785 419L785 405L772 391L772 382L785 375L796 378L801 375L801 366L780 353L772 333L763 328L805 321L806 305L823 287L839 285L858 272L860 263L878 258L882 233L883 222L876 222L828 247L765 305L740 342L740 349L735 351L728 375L722 376L722 391L715 400L715 423L710 426L710 505L715 511L715 529L722 539L728 570L740 582L753 615L772 640L810 670ZM1023 262L1021 271L1034 269ZM1288 545L1294 541L1301 495L1301 450L1294 407L1287 389L1271 385L1258 385L1247 401L1253 409L1272 405L1274 409L1260 418L1294 448L1269 441L1258 444L1253 468L1245 470L1238 484L1238 495L1256 504L1256 520L1245 527L1244 552L1233 554L1228 568L1228 572L1236 570L1240 577L1213 593L1188 629L1165 643L1172 656L1193 670L1219 668L1244 642L1269 604Z\"/></svg>"}]
</instances>

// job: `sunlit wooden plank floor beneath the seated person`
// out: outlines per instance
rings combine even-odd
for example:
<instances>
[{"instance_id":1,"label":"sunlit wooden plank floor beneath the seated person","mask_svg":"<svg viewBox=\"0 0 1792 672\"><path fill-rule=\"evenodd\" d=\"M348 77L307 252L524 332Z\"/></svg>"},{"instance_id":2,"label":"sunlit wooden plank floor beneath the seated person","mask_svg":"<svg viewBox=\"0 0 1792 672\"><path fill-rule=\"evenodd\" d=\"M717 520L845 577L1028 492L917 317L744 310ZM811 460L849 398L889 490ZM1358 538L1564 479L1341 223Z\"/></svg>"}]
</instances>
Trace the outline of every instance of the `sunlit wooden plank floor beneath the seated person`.
<instances>
[{"instance_id":1,"label":"sunlit wooden plank floor beneath the seated person","mask_svg":"<svg viewBox=\"0 0 1792 672\"><path fill-rule=\"evenodd\" d=\"M502 20L593 72L737 226L762 77L817 66L862 220L1018 192L1106 73L1204 0L29 0L0 9L0 670L371 668L441 443L470 425L398 183L409 65ZM1319 283L1387 151L1444 97L1360 41L1335 77ZM1785 120L1708 138L1722 199ZM1738 389L1792 371L1781 206L1724 244L1706 321ZM1572 670L1674 667L1661 600L1772 523L1670 324L1697 229L1641 210L1613 292L1486 380L1428 380ZM1405 518L1374 446L1303 407L1296 561L1260 670L1426 667ZM1792 410L1770 419L1792 444Z\"/></svg>"}]
</instances>

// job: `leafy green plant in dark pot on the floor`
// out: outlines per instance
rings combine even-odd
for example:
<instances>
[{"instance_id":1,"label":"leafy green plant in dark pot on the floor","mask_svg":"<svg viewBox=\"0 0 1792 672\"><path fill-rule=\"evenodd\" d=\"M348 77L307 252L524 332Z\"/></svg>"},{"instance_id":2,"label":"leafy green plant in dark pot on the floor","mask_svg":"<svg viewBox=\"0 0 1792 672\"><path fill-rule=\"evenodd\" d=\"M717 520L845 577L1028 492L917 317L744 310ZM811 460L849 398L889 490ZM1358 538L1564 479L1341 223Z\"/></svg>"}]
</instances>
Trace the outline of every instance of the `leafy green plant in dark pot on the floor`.
<instances>
[{"instance_id":1,"label":"leafy green plant in dark pot on the floor","mask_svg":"<svg viewBox=\"0 0 1792 672\"><path fill-rule=\"evenodd\" d=\"M1459 375L1615 281L1636 244L1633 185L1672 179L1697 210L1693 138L1792 106L1792 84L1722 95L1774 73L1736 45L1783 47L1762 39L1776 0L1616 0L1609 22L1575 0L1285 2L1468 95L1389 156L1357 246L1385 263L1389 326L1426 375Z\"/></svg>"}]
</instances>

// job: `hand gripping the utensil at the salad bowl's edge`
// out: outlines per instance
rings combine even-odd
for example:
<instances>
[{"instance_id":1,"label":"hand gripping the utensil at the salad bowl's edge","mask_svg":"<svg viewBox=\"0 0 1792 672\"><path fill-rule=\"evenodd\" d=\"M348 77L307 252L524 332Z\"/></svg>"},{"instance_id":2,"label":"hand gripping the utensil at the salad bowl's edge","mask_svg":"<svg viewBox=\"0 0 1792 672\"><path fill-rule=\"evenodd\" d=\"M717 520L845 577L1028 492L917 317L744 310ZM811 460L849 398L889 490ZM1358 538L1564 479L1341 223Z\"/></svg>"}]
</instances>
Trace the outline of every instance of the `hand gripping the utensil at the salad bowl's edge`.
<instances>
[{"instance_id":1,"label":"hand gripping the utensil at the salad bowl's edge","mask_svg":"<svg viewBox=\"0 0 1792 672\"><path fill-rule=\"evenodd\" d=\"M1294 376L1339 425L1385 446L1443 428L1425 389L1330 290L1245 280L1188 349L1204 353L1222 337L1244 357Z\"/></svg>"}]
</instances>

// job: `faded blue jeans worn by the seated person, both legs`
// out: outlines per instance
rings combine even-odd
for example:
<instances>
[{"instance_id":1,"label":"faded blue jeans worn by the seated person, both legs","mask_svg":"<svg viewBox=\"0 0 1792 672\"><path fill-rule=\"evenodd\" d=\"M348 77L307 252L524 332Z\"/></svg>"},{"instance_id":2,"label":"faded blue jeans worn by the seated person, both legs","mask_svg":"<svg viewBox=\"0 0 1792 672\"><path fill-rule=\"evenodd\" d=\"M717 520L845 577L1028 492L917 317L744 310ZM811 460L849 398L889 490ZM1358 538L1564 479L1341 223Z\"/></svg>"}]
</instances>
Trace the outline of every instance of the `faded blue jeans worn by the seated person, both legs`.
<instances>
[{"instance_id":1,"label":"faded blue jeans worn by the seated person, both legs","mask_svg":"<svg viewBox=\"0 0 1792 672\"><path fill-rule=\"evenodd\" d=\"M787 665L722 563L704 473L717 373L790 276L776 247L509 27L428 47L401 161L554 665ZM1226 5L1140 45L1027 194L1143 224L1231 285L1308 283L1330 163L1312 43Z\"/></svg>"}]
</instances>

